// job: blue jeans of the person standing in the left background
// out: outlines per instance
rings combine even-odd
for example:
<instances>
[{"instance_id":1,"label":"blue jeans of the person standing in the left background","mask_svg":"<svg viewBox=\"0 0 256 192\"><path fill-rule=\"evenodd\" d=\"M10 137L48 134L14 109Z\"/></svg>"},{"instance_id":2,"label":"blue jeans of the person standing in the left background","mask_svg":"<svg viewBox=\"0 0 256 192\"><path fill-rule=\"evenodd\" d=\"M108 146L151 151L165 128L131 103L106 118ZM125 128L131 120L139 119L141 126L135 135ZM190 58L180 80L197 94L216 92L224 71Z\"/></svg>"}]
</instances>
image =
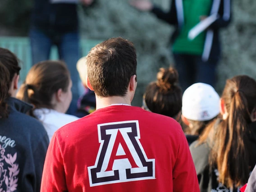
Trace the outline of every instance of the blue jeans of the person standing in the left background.
<instances>
[{"instance_id":1,"label":"blue jeans of the person standing in the left background","mask_svg":"<svg viewBox=\"0 0 256 192\"><path fill-rule=\"evenodd\" d=\"M72 103L76 103L79 98L79 76L76 69L77 61L80 58L78 32L59 34L54 31L42 32L39 29L32 27L29 32L29 38L32 50L32 64L36 64L43 60L48 60L50 57L51 47L53 45L57 46L59 59L64 60L70 71L70 76L73 82ZM75 109L72 111L75 111Z\"/></svg>"}]
</instances>

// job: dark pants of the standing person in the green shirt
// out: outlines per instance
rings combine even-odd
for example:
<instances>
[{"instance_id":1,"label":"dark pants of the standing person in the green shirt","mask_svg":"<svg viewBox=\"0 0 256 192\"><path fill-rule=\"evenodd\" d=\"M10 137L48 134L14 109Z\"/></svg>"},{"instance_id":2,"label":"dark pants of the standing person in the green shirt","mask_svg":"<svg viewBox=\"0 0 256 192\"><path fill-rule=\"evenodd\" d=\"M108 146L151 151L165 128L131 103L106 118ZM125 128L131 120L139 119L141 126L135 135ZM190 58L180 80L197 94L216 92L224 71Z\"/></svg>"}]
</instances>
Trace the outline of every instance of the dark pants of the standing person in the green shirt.
<instances>
[{"instance_id":1,"label":"dark pants of the standing person in the green shirt","mask_svg":"<svg viewBox=\"0 0 256 192\"><path fill-rule=\"evenodd\" d=\"M196 82L215 86L216 66L219 59L202 61L201 55L174 54L174 61L183 91Z\"/></svg>"}]
</instances>

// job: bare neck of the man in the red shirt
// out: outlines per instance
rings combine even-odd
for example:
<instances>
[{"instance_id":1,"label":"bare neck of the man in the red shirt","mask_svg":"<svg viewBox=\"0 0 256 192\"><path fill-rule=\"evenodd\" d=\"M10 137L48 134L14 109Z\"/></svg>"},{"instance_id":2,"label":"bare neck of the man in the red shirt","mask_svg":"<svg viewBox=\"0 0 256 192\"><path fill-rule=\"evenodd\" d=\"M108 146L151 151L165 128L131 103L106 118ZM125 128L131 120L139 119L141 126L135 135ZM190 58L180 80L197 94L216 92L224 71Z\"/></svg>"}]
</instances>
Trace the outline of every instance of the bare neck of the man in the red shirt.
<instances>
[{"instance_id":1,"label":"bare neck of the man in the red shirt","mask_svg":"<svg viewBox=\"0 0 256 192\"><path fill-rule=\"evenodd\" d=\"M127 96L110 96L110 97L98 97L96 96L96 110L110 106L110 105L131 105L131 101Z\"/></svg>"}]
</instances>

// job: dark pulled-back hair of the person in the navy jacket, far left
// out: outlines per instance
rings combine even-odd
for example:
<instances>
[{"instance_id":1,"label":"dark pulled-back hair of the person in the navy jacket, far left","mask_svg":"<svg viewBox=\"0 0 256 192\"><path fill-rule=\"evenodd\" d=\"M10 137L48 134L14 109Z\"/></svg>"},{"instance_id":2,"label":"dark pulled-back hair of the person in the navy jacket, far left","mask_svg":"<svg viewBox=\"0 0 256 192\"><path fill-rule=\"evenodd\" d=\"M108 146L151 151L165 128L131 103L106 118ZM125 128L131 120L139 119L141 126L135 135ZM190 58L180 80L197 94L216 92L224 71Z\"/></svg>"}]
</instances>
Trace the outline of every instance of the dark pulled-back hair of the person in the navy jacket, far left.
<instances>
[{"instance_id":1,"label":"dark pulled-back hair of the person in the navy jacket, far left","mask_svg":"<svg viewBox=\"0 0 256 192\"><path fill-rule=\"evenodd\" d=\"M11 51L0 48L0 118L8 117L8 105L6 99L14 75L19 74L18 58Z\"/></svg>"}]
</instances>

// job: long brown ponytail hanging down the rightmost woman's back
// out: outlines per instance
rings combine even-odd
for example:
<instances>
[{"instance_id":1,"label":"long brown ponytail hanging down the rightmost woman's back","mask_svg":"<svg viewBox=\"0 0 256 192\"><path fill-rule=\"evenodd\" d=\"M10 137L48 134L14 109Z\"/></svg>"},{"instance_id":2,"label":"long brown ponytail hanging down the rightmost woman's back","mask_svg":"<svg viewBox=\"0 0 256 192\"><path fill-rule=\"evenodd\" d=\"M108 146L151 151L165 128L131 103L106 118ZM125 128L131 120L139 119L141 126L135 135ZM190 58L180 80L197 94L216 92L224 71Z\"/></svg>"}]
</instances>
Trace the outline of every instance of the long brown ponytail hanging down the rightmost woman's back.
<instances>
[{"instance_id":1,"label":"long brown ponytail hanging down the rightmost woman's back","mask_svg":"<svg viewBox=\"0 0 256 192\"><path fill-rule=\"evenodd\" d=\"M229 106L228 106L229 105ZM226 105L228 118L223 120L216 137L221 142L215 146L219 181L236 187L247 183L249 177L249 151L247 126L250 122L247 100L244 93L236 91L231 102ZM221 131L222 130L222 131ZM224 130L224 131L223 131Z\"/></svg>"}]
</instances>

